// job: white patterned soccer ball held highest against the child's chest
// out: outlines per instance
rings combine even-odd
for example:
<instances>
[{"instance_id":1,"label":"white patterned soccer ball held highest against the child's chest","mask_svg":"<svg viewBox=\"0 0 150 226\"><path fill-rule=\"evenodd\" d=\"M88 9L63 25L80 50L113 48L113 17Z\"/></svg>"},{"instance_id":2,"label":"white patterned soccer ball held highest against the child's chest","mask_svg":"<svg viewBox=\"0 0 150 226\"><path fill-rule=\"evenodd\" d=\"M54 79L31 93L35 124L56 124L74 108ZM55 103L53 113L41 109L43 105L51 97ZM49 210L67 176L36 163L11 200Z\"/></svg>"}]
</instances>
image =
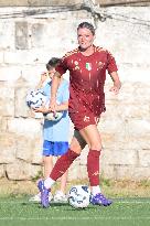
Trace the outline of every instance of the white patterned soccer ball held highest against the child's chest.
<instances>
[{"instance_id":1,"label":"white patterned soccer ball held highest against the child's chest","mask_svg":"<svg viewBox=\"0 0 150 226\"><path fill-rule=\"evenodd\" d=\"M26 95L26 105L30 108L39 108L42 105L45 105L46 96L43 94L41 89L31 90Z\"/></svg>"}]
</instances>

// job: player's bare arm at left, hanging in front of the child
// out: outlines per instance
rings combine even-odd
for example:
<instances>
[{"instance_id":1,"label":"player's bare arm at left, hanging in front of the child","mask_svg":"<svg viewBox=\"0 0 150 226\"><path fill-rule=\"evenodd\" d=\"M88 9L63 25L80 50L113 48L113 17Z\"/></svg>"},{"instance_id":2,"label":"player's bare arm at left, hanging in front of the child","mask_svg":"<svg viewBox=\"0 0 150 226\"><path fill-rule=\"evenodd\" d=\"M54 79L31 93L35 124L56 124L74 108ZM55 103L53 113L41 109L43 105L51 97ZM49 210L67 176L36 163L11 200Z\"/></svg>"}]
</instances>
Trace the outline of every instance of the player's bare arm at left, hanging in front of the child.
<instances>
[{"instance_id":1,"label":"player's bare arm at left, hanging in front of the child","mask_svg":"<svg viewBox=\"0 0 150 226\"><path fill-rule=\"evenodd\" d=\"M52 86L51 86L51 100L50 100L50 109L51 111L56 111L56 93L60 85L60 78L61 74L58 72L55 72L53 79L52 79Z\"/></svg>"}]
</instances>

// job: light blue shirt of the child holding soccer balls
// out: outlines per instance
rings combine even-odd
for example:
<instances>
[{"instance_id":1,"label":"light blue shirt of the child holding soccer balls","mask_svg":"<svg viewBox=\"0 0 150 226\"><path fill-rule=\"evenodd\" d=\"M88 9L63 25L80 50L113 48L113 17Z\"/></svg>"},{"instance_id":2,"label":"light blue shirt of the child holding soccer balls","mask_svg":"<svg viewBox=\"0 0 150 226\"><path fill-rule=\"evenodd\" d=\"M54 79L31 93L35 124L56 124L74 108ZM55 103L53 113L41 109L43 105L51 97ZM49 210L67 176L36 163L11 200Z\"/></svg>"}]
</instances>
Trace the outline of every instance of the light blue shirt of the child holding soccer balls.
<instances>
[{"instance_id":1,"label":"light blue shirt of the child holding soccer balls","mask_svg":"<svg viewBox=\"0 0 150 226\"><path fill-rule=\"evenodd\" d=\"M43 92L47 99L51 99L51 82L43 87ZM68 82L63 79L58 86L56 100L60 104L68 101ZM68 111L63 111L63 117L58 121L44 120L43 139L52 142L68 141L69 117Z\"/></svg>"}]
</instances>

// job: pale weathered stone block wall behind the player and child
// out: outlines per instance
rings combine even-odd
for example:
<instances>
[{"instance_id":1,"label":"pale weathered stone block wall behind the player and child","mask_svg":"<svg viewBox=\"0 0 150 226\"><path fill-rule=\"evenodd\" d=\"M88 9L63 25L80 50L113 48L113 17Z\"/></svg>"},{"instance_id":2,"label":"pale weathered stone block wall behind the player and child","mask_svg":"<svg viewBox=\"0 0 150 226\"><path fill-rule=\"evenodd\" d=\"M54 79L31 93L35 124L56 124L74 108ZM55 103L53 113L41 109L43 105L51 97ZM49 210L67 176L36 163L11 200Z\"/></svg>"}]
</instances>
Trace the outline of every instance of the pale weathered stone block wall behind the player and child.
<instances>
[{"instance_id":1,"label":"pale weathered stone block wall behind the player and child","mask_svg":"<svg viewBox=\"0 0 150 226\"><path fill-rule=\"evenodd\" d=\"M97 28L95 44L108 49L119 67L122 88L109 93L99 131L100 168L109 179L150 179L150 8L0 8L0 177L31 180L42 172L42 120L25 105L45 63L76 47L76 26ZM71 20L72 18L72 20ZM73 127L71 125L71 137ZM69 180L87 176L85 149L69 171ZM76 165L76 166L75 166Z\"/></svg>"}]
</instances>

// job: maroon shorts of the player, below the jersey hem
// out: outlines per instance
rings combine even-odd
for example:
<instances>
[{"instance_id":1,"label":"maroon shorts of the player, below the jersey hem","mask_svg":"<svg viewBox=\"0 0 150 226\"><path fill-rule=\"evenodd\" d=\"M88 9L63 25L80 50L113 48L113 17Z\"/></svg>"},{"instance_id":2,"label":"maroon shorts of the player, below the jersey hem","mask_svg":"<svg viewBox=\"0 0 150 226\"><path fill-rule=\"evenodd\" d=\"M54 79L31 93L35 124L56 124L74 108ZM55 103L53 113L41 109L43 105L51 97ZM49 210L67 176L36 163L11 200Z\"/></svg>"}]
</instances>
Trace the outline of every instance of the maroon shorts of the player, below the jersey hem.
<instances>
[{"instance_id":1,"label":"maroon shorts of the player, below the jersey hem","mask_svg":"<svg viewBox=\"0 0 150 226\"><path fill-rule=\"evenodd\" d=\"M90 111L69 112L69 118L76 130L82 130L89 125L97 125L100 116L94 116Z\"/></svg>"}]
</instances>

